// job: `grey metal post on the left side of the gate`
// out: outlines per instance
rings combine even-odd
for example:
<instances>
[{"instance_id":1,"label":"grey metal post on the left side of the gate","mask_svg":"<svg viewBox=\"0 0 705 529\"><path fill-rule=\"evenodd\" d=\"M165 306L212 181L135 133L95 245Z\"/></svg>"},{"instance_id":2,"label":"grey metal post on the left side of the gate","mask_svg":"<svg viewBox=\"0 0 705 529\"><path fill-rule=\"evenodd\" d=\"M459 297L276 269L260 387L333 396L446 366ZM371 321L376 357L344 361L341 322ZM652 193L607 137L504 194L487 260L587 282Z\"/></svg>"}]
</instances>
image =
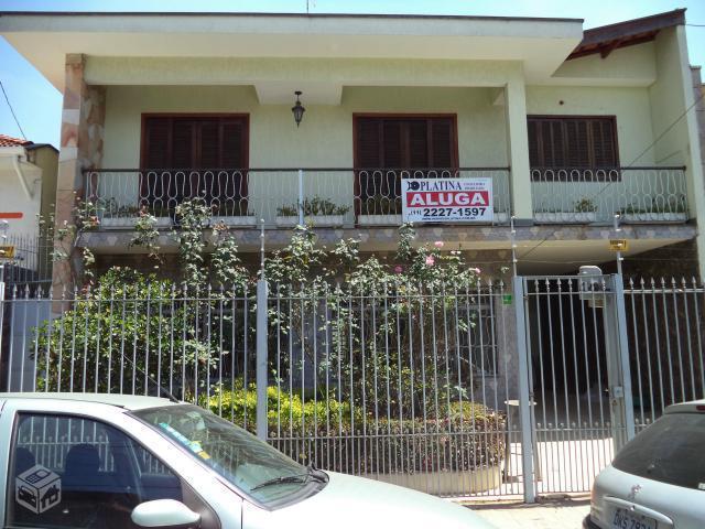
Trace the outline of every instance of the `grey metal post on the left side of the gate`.
<instances>
[{"instance_id":1,"label":"grey metal post on the left side of the gate","mask_svg":"<svg viewBox=\"0 0 705 529\"><path fill-rule=\"evenodd\" d=\"M531 396L529 392L529 347L527 346L527 312L523 278L512 278L514 306L517 310L517 354L519 355L519 417L521 422L521 474L524 481L524 501L536 500L533 476L533 421L531 417Z\"/></svg>"}]
</instances>

